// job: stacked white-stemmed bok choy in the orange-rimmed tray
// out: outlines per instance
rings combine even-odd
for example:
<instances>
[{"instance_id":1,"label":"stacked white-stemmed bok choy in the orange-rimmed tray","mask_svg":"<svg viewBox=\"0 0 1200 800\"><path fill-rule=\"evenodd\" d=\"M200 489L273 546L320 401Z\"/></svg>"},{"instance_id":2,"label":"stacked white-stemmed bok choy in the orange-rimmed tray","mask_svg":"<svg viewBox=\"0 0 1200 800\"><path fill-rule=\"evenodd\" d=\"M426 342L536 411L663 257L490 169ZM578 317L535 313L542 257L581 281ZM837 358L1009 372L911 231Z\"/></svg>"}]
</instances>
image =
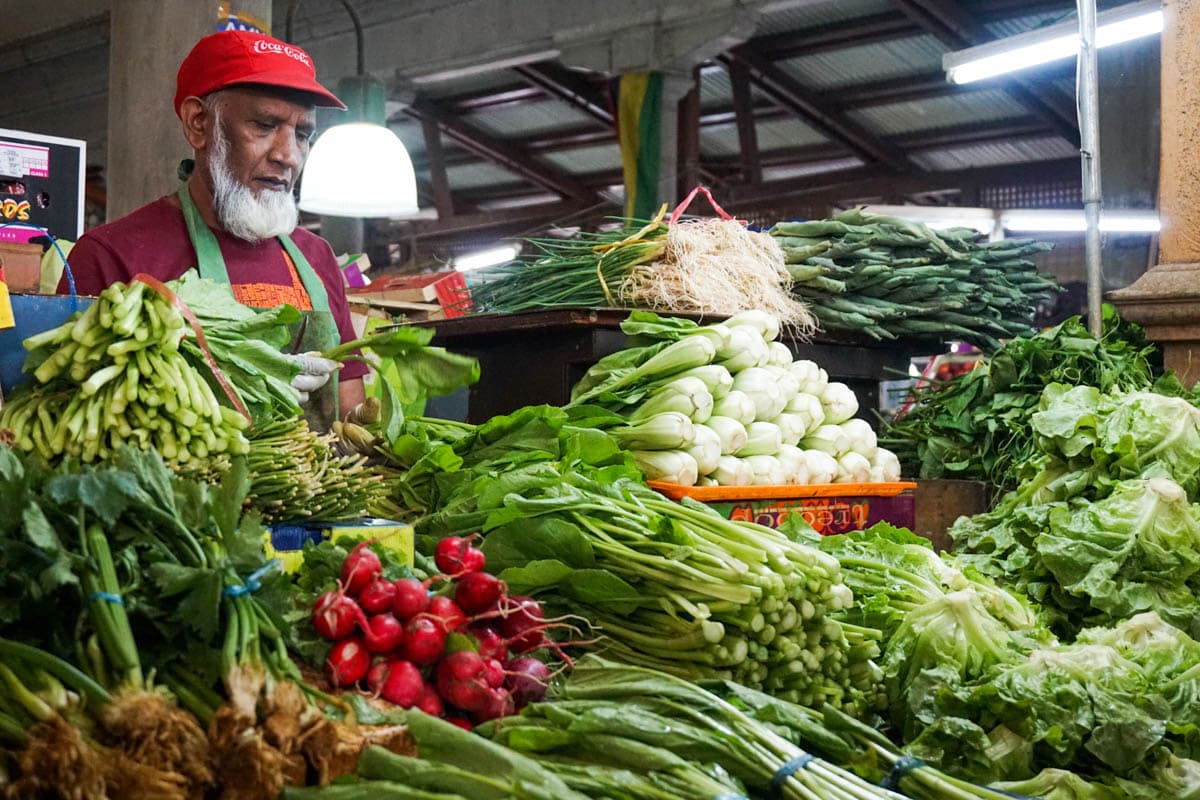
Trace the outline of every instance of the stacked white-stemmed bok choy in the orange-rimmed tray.
<instances>
[{"instance_id":1,"label":"stacked white-stemmed bok choy in the orange-rimmed tray","mask_svg":"<svg viewBox=\"0 0 1200 800\"><path fill-rule=\"evenodd\" d=\"M700 326L634 312L622 330L648 342L601 359L568 408L593 417L650 480L684 486L864 483L900 479L854 393L812 361L793 361L779 321L746 312ZM620 423L620 425L614 425Z\"/></svg>"}]
</instances>

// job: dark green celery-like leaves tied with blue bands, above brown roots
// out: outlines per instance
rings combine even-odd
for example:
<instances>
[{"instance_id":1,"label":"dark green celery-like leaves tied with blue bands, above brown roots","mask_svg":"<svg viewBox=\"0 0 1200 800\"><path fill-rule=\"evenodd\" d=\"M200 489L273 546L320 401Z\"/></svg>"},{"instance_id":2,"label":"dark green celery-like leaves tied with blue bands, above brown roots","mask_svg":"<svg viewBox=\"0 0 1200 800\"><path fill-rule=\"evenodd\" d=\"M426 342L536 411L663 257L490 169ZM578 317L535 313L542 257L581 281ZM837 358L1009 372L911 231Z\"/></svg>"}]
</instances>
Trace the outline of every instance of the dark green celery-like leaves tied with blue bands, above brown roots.
<instances>
[{"instance_id":1,"label":"dark green celery-like leaves tied with blue bands, above brown roots","mask_svg":"<svg viewBox=\"0 0 1200 800\"><path fill-rule=\"evenodd\" d=\"M236 668L292 676L284 622L269 610L287 579L264 570L265 529L242 512L247 486L240 462L211 486L134 447L104 465L53 473L0 447L0 495L12 504L0 517L0 636L102 682L156 674L181 699L200 699L188 708L202 715L214 710L203 696ZM128 620L115 637L114 614Z\"/></svg>"}]
</instances>

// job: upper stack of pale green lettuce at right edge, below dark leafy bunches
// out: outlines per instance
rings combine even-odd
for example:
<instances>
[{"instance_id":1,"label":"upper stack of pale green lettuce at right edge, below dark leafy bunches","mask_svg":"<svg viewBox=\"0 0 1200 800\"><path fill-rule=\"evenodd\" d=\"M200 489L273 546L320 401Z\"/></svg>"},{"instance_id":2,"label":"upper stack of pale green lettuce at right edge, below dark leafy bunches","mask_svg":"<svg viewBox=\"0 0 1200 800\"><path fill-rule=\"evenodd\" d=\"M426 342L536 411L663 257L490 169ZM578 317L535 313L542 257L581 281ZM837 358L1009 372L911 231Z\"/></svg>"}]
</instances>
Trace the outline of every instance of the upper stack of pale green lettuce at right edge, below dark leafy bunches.
<instances>
[{"instance_id":1,"label":"upper stack of pale green lettuce at right edge, below dark leafy bunches","mask_svg":"<svg viewBox=\"0 0 1200 800\"><path fill-rule=\"evenodd\" d=\"M1200 634L1200 410L1153 392L1049 386L1040 471L950 529L960 558L1072 636L1156 610Z\"/></svg>"}]
</instances>

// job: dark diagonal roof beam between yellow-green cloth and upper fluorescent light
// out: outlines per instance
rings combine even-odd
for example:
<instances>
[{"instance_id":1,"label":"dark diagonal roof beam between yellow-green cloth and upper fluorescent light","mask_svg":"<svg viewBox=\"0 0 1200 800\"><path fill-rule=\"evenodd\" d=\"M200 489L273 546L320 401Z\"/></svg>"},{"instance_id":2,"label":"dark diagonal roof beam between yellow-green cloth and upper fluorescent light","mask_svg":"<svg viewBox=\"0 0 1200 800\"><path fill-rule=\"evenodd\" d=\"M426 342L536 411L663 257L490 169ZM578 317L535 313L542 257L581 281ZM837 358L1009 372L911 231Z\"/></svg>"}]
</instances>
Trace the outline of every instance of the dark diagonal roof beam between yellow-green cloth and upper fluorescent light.
<instances>
[{"instance_id":1,"label":"dark diagonal roof beam between yellow-green cloth and upper fluorescent light","mask_svg":"<svg viewBox=\"0 0 1200 800\"><path fill-rule=\"evenodd\" d=\"M725 64L743 64L763 94L860 158L877 161L901 172L912 169L912 164L900 150L851 120L842 110L828 107L816 92L800 85L761 54L739 47L720 58Z\"/></svg>"}]
</instances>

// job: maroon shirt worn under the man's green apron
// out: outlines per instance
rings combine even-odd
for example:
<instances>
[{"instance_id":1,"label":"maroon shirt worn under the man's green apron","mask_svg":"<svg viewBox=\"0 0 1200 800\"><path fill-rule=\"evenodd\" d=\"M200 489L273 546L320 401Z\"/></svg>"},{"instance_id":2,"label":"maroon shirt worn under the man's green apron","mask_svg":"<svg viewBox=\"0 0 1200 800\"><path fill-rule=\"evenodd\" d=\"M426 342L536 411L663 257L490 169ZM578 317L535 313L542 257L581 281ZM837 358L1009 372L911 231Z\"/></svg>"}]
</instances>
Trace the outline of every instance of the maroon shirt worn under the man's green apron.
<instances>
[{"instance_id":1,"label":"maroon shirt worn under the man's green apron","mask_svg":"<svg viewBox=\"0 0 1200 800\"><path fill-rule=\"evenodd\" d=\"M290 287L292 270L276 239L248 242L224 230L211 229L224 257L229 282L233 284L274 284ZM350 308L346 302L346 285L337 269L337 259L329 242L304 228L292 231L304 257L308 259L329 295L329 309L337 323L342 342L355 337L350 325ZM67 255L76 291L97 295L110 283L127 283L138 272L146 272L160 281L174 281L196 266L196 251L187 236L184 212L174 196L161 197L120 219L85 233ZM59 294L67 294L67 278L59 281ZM361 378L367 366L347 361L341 380Z\"/></svg>"}]
</instances>

